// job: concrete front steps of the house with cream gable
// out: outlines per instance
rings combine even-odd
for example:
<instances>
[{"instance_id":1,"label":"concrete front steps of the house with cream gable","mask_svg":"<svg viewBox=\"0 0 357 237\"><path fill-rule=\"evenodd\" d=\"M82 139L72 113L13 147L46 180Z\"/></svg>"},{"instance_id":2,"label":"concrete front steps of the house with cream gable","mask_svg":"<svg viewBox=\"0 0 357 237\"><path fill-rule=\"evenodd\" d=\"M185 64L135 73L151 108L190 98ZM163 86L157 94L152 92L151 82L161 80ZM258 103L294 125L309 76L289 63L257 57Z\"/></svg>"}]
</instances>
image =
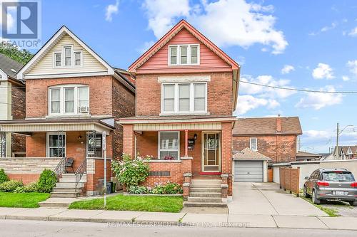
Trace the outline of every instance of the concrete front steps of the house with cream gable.
<instances>
[{"instance_id":1,"label":"concrete front steps of the house with cream gable","mask_svg":"<svg viewBox=\"0 0 357 237\"><path fill-rule=\"evenodd\" d=\"M81 177L81 181L76 189L76 177L74 174L62 174L54 190L51 192L51 198L76 198L81 196L82 189L86 183L86 174Z\"/></svg>"}]
</instances>

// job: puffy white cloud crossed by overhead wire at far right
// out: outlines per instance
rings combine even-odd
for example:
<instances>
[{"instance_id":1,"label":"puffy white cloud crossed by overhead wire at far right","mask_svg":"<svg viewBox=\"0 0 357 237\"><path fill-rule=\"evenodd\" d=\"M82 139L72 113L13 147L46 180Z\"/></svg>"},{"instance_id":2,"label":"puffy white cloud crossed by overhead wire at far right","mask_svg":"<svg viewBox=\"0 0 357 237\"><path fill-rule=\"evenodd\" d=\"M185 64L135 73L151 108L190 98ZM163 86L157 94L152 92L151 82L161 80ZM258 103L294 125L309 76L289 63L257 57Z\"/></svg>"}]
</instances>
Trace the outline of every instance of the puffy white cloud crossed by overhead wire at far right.
<instances>
[{"instance_id":1,"label":"puffy white cloud crossed by overhead wire at far right","mask_svg":"<svg viewBox=\"0 0 357 237\"><path fill-rule=\"evenodd\" d=\"M332 85L326 85L320 88L320 91L336 91ZM343 95L333 93L308 93L306 97L301 98L295 107L299 108L313 108L320 110L323 107L338 105L342 102Z\"/></svg>"}]
</instances>

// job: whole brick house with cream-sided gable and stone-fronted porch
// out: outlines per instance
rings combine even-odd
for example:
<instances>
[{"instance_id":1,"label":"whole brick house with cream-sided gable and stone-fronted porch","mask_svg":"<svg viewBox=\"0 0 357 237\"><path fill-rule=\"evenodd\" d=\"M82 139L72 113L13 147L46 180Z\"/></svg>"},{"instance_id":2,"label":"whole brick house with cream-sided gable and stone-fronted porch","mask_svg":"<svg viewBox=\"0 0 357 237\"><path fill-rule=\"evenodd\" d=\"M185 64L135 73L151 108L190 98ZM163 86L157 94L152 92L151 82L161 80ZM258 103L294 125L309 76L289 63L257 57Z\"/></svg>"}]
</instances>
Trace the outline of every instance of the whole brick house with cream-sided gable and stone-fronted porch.
<instances>
[{"instance_id":1,"label":"whole brick house with cream-sided gable and stone-fronted porch","mask_svg":"<svg viewBox=\"0 0 357 237\"><path fill-rule=\"evenodd\" d=\"M102 148L106 145L110 167L110 159L123 151L123 129L115 121L135 115L134 77L106 63L63 26L17 79L26 80L26 117L3 120L0 126L2 132L26 137L26 156L0 159L0 167L24 183L38 179L43 169L54 170L64 184L53 196L101 189ZM107 174L109 180L110 168Z\"/></svg>"}]
</instances>

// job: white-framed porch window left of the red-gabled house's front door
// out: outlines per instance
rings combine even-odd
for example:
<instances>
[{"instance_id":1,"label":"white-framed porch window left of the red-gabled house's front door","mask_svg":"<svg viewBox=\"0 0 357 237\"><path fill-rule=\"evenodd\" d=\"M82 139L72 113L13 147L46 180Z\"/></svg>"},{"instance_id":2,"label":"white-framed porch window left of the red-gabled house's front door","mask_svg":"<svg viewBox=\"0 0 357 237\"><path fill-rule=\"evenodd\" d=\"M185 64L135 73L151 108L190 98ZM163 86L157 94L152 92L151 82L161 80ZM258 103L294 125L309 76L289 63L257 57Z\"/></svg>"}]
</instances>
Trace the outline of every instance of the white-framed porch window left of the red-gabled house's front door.
<instances>
[{"instance_id":1,"label":"white-framed porch window left of the red-gabled house's front door","mask_svg":"<svg viewBox=\"0 0 357 237\"><path fill-rule=\"evenodd\" d=\"M177 160L180 155L180 132L159 132L159 159Z\"/></svg>"}]
</instances>

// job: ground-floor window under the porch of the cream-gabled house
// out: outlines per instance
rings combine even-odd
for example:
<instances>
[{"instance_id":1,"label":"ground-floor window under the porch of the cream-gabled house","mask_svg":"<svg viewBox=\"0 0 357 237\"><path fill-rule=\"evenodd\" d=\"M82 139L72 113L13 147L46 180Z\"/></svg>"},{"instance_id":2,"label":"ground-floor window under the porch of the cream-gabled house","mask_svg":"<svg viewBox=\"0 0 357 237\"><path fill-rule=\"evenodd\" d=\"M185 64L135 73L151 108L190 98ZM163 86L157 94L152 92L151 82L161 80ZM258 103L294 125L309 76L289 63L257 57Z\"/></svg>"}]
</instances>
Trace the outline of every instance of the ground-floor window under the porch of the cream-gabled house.
<instances>
[{"instance_id":1,"label":"ground-floor window under the porch of the cream-gabled house","mask_svg":"<svg viewBox=\"0 0 357 237\"><path fill-rule=\"evenodd\" d=\"M47 157L66 157L65 132L47 132Z\"/></svg>"}]
</instances>

